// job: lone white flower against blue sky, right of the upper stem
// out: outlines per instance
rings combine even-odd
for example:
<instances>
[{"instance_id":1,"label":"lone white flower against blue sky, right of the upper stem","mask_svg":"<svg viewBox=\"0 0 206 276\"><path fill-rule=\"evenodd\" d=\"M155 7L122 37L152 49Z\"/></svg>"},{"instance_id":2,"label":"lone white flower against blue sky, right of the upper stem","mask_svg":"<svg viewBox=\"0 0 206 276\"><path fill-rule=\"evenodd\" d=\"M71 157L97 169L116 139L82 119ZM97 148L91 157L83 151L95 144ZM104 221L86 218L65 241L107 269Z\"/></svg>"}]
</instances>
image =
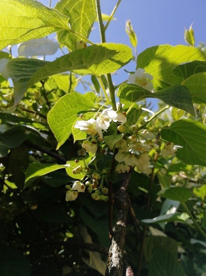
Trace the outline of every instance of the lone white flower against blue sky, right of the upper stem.
<instances>
[{"instance_id":1,"label":"lone white flower against blue sky, right of the upper stem","mask_svg":"<svg viewBox=\"0 0 206 276\"><path fill-rule=\"evenodd\" d=\"M143 88L151 91L153 89L153 83L149 80L152 79L152 75L145 73L144 69L138 68L134 74L129 75L128 82L142 86Z\"/></svg>"}]
</instances>

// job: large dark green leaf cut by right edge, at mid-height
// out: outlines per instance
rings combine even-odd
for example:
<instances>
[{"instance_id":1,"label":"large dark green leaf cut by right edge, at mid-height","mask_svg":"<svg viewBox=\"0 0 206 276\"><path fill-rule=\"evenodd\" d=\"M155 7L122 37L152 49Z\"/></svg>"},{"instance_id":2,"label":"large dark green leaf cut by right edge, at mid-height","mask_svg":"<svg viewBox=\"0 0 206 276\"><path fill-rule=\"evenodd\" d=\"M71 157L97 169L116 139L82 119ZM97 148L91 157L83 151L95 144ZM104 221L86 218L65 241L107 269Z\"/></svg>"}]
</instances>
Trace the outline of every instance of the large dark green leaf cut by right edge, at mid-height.
<instances>
[{"instance_id":1,"label":"large dark green leaf cut by right edge, at mid-height","mask_svg":"<svg viewBox=\"0 0 206 276\"><path fill-rule=\"evenodd\" d=\"M191 119L181 119L163 128L163 139L183 146L178 148L176 156L186 164L206 166L206 126Z\"/></svg>"}]
</instances>

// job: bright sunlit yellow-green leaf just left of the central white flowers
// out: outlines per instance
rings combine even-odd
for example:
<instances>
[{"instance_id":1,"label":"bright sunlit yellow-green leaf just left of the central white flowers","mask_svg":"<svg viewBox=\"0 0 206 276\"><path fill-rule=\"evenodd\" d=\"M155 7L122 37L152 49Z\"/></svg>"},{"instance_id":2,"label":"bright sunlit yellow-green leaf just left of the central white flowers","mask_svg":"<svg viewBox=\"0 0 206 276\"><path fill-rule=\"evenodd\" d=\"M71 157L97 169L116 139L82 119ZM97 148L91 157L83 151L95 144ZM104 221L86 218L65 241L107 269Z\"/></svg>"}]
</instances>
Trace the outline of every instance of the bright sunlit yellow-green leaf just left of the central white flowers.
<instances>
[{"instance_id":1,"label":"bright sunlit yellow-green leaf just left of the central white flowers","mask_svg":"<svg viewBox=\"0 0 206 276\"><path fill-rule=\"evenodd\" d=\"M77 114L93 108L95 98L96 95L93 92L84 95L73 92L63 96L55 103L48 113L48 124L58 141L57 149L70 136Z\"/></svg>"}]
</instances>

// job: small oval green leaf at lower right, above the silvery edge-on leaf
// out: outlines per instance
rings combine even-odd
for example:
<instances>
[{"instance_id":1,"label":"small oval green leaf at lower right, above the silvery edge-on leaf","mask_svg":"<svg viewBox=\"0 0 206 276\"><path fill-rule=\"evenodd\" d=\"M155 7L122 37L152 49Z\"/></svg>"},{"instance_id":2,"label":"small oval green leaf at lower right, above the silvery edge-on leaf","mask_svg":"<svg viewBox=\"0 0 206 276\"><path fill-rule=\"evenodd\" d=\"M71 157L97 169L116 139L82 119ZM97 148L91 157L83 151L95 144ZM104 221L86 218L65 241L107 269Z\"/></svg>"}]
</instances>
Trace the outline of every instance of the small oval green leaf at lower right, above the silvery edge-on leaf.
<instances>
[{"instance_id":1,"label":"small oval green leaf at lower right, above the silvery edge-on leaf","mask_svg":"<svg viewBox=\"0 0 206 276\"><path fill-rule=\"evenodd\" d=\"M185 202L192 196L192 192L185 187L170 187L161 190L159 195L179 202Z\"/></svg>"}]
</instances>

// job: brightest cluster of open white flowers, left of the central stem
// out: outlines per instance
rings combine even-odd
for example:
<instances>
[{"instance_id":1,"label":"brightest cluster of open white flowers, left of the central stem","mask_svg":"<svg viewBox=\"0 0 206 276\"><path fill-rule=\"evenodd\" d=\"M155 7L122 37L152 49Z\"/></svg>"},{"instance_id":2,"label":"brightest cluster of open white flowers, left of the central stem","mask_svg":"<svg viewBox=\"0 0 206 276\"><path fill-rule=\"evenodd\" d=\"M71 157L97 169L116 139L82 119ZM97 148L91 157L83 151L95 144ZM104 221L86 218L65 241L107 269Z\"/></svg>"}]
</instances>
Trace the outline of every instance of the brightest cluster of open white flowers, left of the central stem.
<instances>
[{"instance_id":1,"label":"brightest cluster of open white flowers, left of the central stem","mask_svg":"<svg viewBox=\"0 0 206 276\"><path fill-rule=\"evenodd\" d=\"M126 123L126 113L120 111L114 111L112 108L106 108L102 112L97 113L97 119L89 119L88 121L77 121L74 128L79 128L79 130L86 132L91 135L92 138L99 136L98 140L103 141L102 131L107 131L110 122L120 122L122 124ZM82 143L82 148L86 152L92 152L93 154L97 151L97 140L92 139L91 141L85 140Z\"/></svg>"}]
</instances>

